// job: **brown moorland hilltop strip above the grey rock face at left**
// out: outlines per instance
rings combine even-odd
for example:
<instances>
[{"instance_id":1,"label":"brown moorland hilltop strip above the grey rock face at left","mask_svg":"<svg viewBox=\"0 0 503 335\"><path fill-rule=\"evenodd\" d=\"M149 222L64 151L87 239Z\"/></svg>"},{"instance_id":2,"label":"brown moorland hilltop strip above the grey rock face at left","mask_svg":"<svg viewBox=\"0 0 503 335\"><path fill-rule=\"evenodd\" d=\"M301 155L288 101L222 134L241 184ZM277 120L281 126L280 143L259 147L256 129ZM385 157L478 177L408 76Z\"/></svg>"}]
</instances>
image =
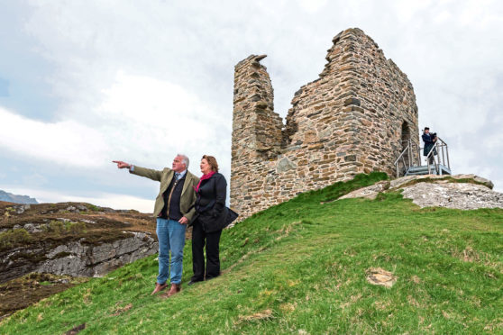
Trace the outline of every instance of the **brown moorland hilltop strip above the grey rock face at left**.
<instances>
[{"instance_id":1,"label":"brown moorland hilltop strip above the grey rock face at left","mask_svg":"<svg viewBox=\"0 0 503 335\"><path fill-rule=\"evenodd\" d=\"M0 202L0 253L21 246L59 245L81 239L100 244L127 237L123 231L155 235L154 218L133 210L114 211L84 203L31 204L25 210L23 206ZM27 231L27 225L34 231Z\"/></svg>"}]
</instances>

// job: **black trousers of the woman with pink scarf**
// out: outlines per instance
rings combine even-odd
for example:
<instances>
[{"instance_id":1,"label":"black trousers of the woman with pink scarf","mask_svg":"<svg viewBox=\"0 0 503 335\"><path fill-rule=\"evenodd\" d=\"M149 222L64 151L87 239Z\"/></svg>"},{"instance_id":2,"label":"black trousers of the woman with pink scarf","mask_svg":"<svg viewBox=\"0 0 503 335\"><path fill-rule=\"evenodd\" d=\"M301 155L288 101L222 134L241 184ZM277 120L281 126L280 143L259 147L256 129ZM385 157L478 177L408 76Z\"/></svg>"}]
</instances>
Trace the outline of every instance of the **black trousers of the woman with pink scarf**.
<instances>
[{"instance_id":1,"label":"black trousers of the woman with pink scarf","mask_svg":"<svg viewBox=\"0 0 503 335\"><path fill-rule=\"evenodd\" d=\"M194 222L192 228L192 269L194 276L192 281L197 282L220 276L220 257L218 244L220 243L220 231L206 232L200 222ZM206 245L206 273L205 255L203 249Z\"/></svg>"}]
</instances>

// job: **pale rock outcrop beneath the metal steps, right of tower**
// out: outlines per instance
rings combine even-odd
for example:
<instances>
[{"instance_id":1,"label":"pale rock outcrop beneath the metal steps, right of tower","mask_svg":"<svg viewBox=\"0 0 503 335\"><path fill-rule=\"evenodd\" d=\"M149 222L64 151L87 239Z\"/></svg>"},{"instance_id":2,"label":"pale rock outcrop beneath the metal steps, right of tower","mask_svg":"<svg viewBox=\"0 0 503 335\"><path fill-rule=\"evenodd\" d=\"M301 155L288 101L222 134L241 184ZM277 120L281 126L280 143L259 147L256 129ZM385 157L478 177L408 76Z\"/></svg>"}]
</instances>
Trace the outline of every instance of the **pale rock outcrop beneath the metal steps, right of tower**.
<instances>
[{"instance_id":1,"label":"pale rock outcrop beneath the metal steps, right of tower","mask_svg":"<svg viewBox=\"0 0 503 335\"><path fill-rule=\"evenodd\" d=\"M492 190L489 179L475 175L409 176L382 181L355 190L339 199L375 198L380 192L402 190L404 198L420 207L446 207L462 210L503 208L503 194Z\"/></svg>"}]
</instances>

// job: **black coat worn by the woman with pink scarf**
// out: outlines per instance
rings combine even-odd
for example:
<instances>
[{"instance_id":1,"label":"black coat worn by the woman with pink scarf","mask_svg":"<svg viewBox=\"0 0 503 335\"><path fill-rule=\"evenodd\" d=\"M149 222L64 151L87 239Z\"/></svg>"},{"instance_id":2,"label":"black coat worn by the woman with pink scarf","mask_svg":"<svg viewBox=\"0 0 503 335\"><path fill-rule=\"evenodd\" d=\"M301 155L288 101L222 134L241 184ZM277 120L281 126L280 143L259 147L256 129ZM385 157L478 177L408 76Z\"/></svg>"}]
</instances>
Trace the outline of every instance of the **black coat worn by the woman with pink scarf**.
<instances>
[{"instance_id":1,"label":"black coat worn by the woman with pink scarf","mask_svg":"<svg viewBox=\"0 0 503 335\"><path fill-rule=\"evenodd\" d=\"M225 177L216 172L203 180L197 191L197 221L206 232L221 231L235 220L237 214L225 207L227 182Z\"/></svg>"}]
</instances>

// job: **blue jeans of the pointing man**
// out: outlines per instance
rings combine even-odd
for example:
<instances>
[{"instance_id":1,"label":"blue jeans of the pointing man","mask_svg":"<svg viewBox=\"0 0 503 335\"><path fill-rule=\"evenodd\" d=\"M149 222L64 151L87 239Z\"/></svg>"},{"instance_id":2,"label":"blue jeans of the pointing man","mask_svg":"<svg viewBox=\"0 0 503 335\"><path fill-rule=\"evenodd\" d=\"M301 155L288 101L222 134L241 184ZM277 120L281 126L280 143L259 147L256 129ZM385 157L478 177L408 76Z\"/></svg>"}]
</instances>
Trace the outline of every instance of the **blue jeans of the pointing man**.
<instances>
[{"instance_id":1,"label":"blue jeans of the pointing man","mask_svg":"<svg viewBox=\"0 0 503 335\"><path fill-rule=\"evenodd\" d=\"M168 280L169 266L171 284L180 284L185 247L187 224L178 221L157 218L157 238L159 240L159 276L157 282L164 284ZM169 250L171 262L169 263Z\"/></svg>"}]
</instances>

